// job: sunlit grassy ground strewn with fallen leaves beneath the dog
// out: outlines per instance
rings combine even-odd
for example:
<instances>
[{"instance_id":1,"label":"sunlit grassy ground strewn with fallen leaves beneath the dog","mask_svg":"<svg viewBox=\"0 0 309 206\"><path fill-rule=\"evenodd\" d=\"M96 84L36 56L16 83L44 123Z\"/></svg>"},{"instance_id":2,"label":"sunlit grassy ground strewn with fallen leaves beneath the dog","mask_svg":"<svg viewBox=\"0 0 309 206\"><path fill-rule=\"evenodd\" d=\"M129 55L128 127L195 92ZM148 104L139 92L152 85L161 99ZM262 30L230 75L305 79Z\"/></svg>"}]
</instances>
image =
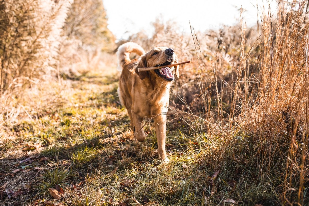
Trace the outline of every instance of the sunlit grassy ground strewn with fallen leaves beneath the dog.
<instances>
[{"instance_id":1,"label":"sunlit grassy ground strewn with fallen leaves beneath the dog","mask_svg":"<svg viewBox=\"0 0 309 206\"><path fill-rule=\"evenodd\" d=\"M258 145L241 132L209 135L205 120L169 115L168 164L157 155L152 122L146 141L133 142L118 78L105 66L24 93L28 100L16 105L23 112L0 138L0 205L280 203L285 165L261 168Z\"/></svg>"}]
</instances>

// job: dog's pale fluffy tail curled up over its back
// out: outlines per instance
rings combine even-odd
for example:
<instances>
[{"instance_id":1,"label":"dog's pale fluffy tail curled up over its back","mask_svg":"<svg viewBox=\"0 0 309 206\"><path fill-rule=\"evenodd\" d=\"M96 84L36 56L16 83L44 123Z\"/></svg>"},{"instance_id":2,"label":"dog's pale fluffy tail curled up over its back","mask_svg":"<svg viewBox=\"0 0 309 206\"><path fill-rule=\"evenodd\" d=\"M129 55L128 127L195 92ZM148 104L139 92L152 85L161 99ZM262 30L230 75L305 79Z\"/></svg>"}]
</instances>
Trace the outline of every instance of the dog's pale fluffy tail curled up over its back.
<instances>
[{"instance_id":1,"label":"dog's pale fluffy tail curled up over its back","mask_svg":"<svg viewBox=\"0 0 309 206\"><path fill-rule=\"evenodd\" d=\"M119 59L118 67L117 67L118 71L122 71L123 65L131 61L130 53L136 53L139 56L142 56L145 53L145 51L140 45L134 42L127 42L125 44L122 44L118 48L117 53L116 53Z\"/></svg>"}]
</instances>

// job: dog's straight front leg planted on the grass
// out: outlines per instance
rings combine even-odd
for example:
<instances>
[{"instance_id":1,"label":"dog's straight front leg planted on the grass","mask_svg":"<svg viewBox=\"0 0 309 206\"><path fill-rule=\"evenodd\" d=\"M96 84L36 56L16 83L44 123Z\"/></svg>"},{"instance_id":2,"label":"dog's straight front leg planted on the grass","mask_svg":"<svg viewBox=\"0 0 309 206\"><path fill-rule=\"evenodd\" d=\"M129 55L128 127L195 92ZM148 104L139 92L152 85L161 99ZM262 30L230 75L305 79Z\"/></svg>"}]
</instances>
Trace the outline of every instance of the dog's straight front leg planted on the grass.
<instances>
[{"instance_id":1,"label":"dog's straight front leg planted on the grass","mask_svg":"<svg viewBox=\"0 0 309 206\"><path fill-rule=\"evenodd\" d=\"M165 152L165 137L166 137L166 115L160 115L155 118L155 131L158 142L158 154L164 162L170 160L166 156Z\"/></svg>"}]
</instances>

